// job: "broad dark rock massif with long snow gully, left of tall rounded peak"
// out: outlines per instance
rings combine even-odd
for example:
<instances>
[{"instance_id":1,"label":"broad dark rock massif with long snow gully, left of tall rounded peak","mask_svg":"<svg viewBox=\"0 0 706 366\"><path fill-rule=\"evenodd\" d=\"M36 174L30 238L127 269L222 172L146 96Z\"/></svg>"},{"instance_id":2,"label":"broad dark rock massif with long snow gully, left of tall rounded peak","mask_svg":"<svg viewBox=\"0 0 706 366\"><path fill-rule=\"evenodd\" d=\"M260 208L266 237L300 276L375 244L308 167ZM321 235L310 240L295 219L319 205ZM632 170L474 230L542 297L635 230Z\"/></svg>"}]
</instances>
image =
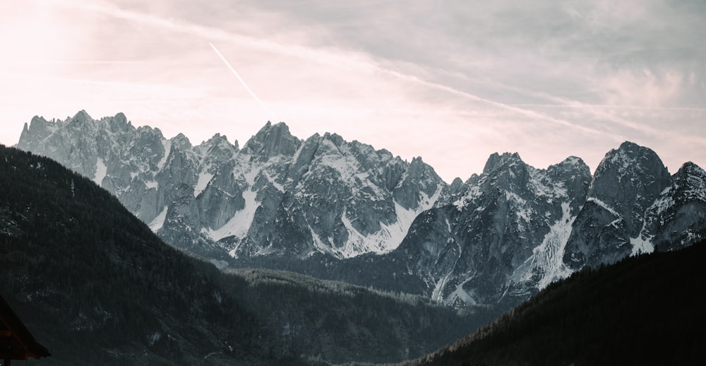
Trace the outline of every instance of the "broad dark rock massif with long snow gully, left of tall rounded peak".
<instances>
[{"instance_id":1,"label":"broad dark rock massif with long snow gully, left of tall rounded peak","mask_svg":"<svg viewBox=\"0 0 706 366\"><path fill-rule=\"evenodd\" d=\"M436 300L525 300L568 274L561 252L589 182L579 158L538 170L517 154L491 155L483 174L421 214L399 252L409 271L428 274Z\"/></svg>"}]
</instances>

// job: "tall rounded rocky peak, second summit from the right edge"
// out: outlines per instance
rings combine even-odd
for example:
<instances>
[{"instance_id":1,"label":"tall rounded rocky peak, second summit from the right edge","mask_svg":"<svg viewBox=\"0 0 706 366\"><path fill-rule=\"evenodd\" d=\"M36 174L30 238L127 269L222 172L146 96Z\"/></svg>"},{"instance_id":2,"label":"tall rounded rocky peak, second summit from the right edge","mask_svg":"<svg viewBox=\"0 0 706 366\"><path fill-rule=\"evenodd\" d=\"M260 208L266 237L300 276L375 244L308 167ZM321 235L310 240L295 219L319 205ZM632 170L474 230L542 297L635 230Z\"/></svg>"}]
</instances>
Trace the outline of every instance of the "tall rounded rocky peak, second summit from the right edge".
<instances>
[{"instance_id":1,"label":"tall rounded rocky peak, second summit from the right edge","mask_svg":"<svg viewBox=\"0 0 706 366\"><path fill-rule=\"evenodd\" d=\"M669 171L654 151L627 142L609 151L596 169L569 237L568 266L597 266L633 252L650 252L636 242L644 240L631 238L638 238L645 226L645 211L669 186Z\"/></svg>"}]
</instances>

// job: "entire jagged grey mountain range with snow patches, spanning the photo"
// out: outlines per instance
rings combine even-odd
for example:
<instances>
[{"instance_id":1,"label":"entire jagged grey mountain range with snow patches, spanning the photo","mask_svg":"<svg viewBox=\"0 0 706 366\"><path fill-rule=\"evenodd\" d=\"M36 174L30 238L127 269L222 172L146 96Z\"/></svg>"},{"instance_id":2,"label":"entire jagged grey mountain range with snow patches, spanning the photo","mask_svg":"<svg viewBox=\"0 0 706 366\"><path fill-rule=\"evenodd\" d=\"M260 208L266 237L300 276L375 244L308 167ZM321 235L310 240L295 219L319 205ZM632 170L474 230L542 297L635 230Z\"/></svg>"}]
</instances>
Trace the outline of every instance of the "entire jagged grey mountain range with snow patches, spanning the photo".
<instances>
[{"instance_id":1,"label":"entire jagged grey mountain range with snow patches, spanning the photo","mask_svg":"<svg viewBox=\"0 0 706 366\"><path fill-rule=\"evenodd\" d=\"M591 175L576 157L546 170L493 154L446 184L335 134L300 140L266 124L242 149L198 146L123 114L35 117L18 148L115 194L166 242L220 266L264 266L422 293L449 305L514 305L584 266L706 237L706 172L673 176L623 143ZM676 243L676 244L670 244Z\"/></svg>"}]
</instances>

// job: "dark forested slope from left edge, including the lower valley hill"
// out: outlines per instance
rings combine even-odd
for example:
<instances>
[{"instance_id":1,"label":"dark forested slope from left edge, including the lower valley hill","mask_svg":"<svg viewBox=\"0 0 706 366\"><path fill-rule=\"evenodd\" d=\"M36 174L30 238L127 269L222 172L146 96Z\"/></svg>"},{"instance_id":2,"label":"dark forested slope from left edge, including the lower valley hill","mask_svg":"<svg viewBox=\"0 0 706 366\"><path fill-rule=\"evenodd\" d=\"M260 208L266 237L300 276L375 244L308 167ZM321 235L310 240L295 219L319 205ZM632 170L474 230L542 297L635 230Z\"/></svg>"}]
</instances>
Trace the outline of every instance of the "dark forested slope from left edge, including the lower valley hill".
<instances>
[{"instance_id":1,"label":"dark forested slope from left edge, including the lower valley hill","mask_svg":"<svg viewBox=\"0 0 706 366\"><path fill-rule=\"evenodd\" d=\"M222 273L53 160L0 146L0 293L46 365L399 361L498 312L281 271Z\"/></svg>"}]
</instances>

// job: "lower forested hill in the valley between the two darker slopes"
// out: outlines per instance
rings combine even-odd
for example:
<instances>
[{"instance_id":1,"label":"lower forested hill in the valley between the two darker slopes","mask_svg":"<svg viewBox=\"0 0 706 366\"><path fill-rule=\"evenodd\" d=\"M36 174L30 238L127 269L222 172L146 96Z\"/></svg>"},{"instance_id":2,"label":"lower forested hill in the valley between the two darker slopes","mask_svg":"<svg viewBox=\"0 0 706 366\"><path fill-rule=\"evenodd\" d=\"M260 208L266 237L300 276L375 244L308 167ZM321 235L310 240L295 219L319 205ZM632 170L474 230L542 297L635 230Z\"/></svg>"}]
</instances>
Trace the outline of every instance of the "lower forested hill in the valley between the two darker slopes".
<instances>
[{"instance_id":1,"label":"lower forested hill in the valley between the two darker slopes","mask_svg":"<svg viewBox=\"0 0 706 366\"><path fill-rule=\"evenodd\" d=\"M416 358L498 316L491 307L457 312L428 297L387 293L297 273L229 271L230 288L274 338L268 353L299 350L307 362Z\"/></svg>"}]
</instances>

